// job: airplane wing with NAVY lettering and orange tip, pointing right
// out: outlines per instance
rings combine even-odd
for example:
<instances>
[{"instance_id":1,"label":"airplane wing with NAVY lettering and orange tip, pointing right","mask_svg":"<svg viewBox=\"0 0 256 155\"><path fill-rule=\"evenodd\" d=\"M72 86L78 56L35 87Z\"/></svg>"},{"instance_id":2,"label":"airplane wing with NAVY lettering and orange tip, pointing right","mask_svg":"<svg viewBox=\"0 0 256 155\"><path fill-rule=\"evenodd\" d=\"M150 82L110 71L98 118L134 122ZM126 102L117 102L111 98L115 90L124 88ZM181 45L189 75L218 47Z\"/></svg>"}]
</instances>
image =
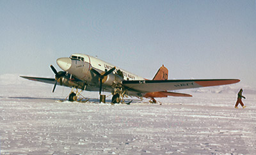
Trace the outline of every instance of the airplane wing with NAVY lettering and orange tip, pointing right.
<instances>
[{"instance_id":1,"label":"airplane wing with NAVY lettering and orange tip, pointing right","mask_svg":"<svg viewBox=\"0 0 256 155\"><path fill-rule=\"evenodd\" d=\"M207 79L207 80L127 80L122 84L132 91L159 92L178 89L191 89L216 85L236 84L239 79Z\"/></svg>"}]
</instances>

